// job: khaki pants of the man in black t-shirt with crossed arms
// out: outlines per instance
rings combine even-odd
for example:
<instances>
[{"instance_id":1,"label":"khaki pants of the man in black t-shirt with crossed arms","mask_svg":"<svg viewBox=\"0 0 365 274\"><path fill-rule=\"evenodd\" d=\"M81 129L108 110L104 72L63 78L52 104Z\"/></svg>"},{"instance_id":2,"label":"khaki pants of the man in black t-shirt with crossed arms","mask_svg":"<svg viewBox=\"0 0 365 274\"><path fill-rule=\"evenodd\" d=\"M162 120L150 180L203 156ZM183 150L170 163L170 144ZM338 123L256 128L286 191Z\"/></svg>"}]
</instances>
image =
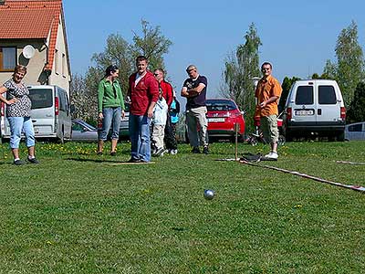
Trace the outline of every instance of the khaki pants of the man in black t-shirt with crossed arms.
<instances>
[{"instance_id":1,"label":"khaki pants of the man in black t-shirt with crossed arms","mask_svg":"<svg viewBox=\"0 0 365 274\"><path fill-rule=\"evenodd\" d=\"M208 145L208 121L206 120L205 114L206 107L199 107L186 111L189 142L193 147L199 146L199 143L203 146ZM200 129L199 134L198 127Z\"/></svg>"}]
</instances>

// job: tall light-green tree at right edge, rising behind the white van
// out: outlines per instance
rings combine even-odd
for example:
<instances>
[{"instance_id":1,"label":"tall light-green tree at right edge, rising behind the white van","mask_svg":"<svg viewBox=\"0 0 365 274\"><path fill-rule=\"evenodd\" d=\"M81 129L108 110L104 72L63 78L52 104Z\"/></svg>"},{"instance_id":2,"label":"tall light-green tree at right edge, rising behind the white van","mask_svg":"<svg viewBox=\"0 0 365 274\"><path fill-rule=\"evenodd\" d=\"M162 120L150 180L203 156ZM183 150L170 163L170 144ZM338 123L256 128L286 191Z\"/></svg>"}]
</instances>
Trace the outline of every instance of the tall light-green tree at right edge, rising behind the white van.
<instances>
[{"instance_id":1,"label":"tall light-green tree at right edge, rising behind the white van","mask_svg":"<svg viewBox=\"0 0 365 274\"><path fill-rule=\"evenodd\" d=\"M363 52L358 42L358 26L354 21L340 32L335 51L337 64L328 60L323 74L338 81L345 105L349 107L356 86L365 76Z\"/></svg>"}]
</instances>

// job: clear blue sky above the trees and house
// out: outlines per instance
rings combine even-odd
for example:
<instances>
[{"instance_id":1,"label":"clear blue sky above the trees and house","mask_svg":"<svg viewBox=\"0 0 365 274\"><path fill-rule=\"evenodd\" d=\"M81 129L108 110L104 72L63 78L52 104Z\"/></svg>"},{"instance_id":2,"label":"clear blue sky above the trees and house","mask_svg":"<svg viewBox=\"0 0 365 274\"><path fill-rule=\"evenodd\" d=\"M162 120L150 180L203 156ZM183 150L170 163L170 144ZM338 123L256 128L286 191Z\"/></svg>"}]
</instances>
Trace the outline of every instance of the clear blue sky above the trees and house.
<instances>
[{"instance_id":1,"label":"clear blue sky above the trees and house","mask_svg":"<svg viewBox=\"0 0 365 274\"><path fill-rule=\"evenodd\" d=\"M175 90L180 93L185 68L194 64L208 79L210 98L220 97L224 59L245 43L251 23L262 43L260 64L271 62L280 82L286 76L307 79L321 74L327 59L336 61L337 38L352 20L365 50L364 0L63 0L63 5L73 74L85 74L110 34L129 42L133 32L141 35L143 19L160 26L172 41L164 61Z\"/></svg>"}]
</instances>

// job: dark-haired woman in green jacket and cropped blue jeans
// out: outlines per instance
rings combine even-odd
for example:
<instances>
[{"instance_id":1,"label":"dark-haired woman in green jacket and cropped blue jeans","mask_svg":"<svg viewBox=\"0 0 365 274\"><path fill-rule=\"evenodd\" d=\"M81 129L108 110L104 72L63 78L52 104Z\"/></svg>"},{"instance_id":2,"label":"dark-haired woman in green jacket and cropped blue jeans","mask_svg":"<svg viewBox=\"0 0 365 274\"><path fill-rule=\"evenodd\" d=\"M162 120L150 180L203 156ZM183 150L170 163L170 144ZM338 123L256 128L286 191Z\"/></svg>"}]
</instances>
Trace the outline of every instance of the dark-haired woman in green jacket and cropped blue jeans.
<instances>
[{"instance_id":1,"label":"dark-haired woman in green jacket and cropped blue jeans","mask_svg":"<svg viewBox=\"0 0 365 274\"><path fill-rule=\"evenodd\" d=\"M120 117L124 118L124 100L118 81L120 70L110 65L105 70L105 77L99 82L98 111L99 120L102 120L102 129L99 132L98 154L102 154L104 142L107 140L110 126L112 126L110 155L116 155L116 148L120 136Z\"/></svg>"}]
</instances>

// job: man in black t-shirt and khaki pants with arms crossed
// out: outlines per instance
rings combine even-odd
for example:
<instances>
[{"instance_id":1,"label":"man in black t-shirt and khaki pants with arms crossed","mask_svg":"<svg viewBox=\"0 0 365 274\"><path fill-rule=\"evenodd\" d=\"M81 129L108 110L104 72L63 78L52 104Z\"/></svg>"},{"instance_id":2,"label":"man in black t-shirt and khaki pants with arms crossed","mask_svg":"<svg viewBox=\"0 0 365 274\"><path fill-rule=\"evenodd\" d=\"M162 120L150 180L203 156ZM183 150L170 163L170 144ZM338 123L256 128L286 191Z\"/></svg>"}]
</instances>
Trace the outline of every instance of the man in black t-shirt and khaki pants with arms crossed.
<instances>
[{"instance_id":1,"label":"man in black t-shirt and khaki pants with arms crossed","mask_svg":"<svg viewBox=\"0 0 365 274\"><path fill-rule=\"evenodd\" d=\"M203 146L203 153L208 154L208 122L206 120L206 87L207 79L199 75L197 68L190 65L186 68L189 78L183 82L181 95L186 97L186 124L188 137L193 153L200 153L199 144ZM199 138L198 138L199 136Z\"/></svg>"}]
</instances>

